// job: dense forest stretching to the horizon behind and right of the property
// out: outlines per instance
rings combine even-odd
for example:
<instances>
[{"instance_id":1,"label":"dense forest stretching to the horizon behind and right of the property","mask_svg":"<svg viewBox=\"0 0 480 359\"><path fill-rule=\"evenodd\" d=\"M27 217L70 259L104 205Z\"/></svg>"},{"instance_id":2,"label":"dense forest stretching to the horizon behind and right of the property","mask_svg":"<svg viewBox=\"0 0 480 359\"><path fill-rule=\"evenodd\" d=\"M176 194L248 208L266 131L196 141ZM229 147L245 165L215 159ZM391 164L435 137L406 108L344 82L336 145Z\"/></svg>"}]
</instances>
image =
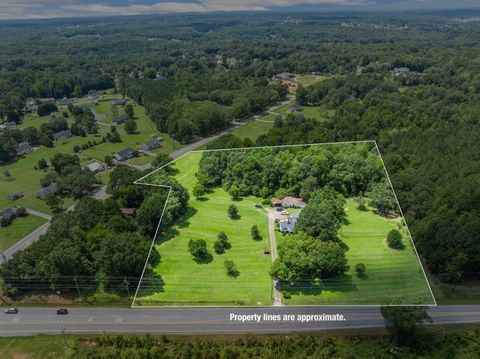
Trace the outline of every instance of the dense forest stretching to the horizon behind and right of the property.
<instances>
[{"instance_id":1,"label":"dense forest stretching to the horizon behind and right of the property","mask_svg":"<svg viewBox=\"0 0 480 359\"><path fill-rule=\"evenodd\" d=\"M476 279L480 24L463 21L475 15L272 13L3 22L0 117L21 121L29 98L80 96L116 85L145 104L159 129L189 141L282 99L285 89L270 81L279 72L324 75L327 80L300 87L297 100L329 110L328 118L279 119L257 144L376 140L429 269L444 281ZM410 71L396 76L392 71L398 67ZM231 137L219 143L251 145ZM32 251L46 251L42 246ZM90 264L87 269L93 272Z\"/></svg>"}]
</instances>

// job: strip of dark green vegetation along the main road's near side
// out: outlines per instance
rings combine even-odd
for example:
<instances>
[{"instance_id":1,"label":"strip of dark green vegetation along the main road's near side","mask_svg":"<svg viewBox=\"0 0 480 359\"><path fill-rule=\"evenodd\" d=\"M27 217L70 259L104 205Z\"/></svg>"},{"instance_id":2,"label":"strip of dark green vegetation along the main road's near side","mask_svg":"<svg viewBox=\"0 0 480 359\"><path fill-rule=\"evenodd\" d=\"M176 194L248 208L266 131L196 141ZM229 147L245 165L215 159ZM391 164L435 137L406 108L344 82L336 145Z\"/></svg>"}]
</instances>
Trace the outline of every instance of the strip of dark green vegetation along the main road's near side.
<instances>
[{"instance_id":1,"label":"strip of dark green vegetation along the main road's near side","mask_svg":"<svg viewBox=\"0 0 480 359\"><path fill-rule=\"evenodd\" d=\"M56 340L54 338L33 338ZM61 342L61 338L58 341ZM22 343L22 339L17 339ZM65 351L58 344L58 357ZM387 336L349 334L345 336L308 333L301 335L225 336L115 336L80 337L69 341L75 358L356 358L356 359L413 359L413 358L475 358L480 333L477 329L458 332L420 333L415 345L398 346ZM412 344L412 343L410 343ZM19 345L20 346L20 345ZM20 351L20 350L18 350ZM18 352L17 351L17 352ZM51 354L56 356L57 352Z\"/></svg>"}]
</instances>

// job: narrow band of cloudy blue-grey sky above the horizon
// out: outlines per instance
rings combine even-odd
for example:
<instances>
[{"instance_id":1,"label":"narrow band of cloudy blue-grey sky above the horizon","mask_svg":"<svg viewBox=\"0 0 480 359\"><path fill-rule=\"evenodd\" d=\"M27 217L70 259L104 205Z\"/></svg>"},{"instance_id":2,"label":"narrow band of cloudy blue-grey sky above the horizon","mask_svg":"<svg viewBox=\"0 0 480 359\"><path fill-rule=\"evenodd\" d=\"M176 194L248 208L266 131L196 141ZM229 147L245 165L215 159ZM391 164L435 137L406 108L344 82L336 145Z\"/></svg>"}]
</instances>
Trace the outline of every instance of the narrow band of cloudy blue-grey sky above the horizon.
<instances>
[{"instance_id":1,"label":"narrow band of cloudy blue-grey sky above the horizon","mask_svg":"<svg viewBox=\"0 0 480 359\"><path fill-rule=\"evenodd\" d=\"M0 20L275 10L479 8L480 0L0 0Z\"/></svg>"}]
</instances>

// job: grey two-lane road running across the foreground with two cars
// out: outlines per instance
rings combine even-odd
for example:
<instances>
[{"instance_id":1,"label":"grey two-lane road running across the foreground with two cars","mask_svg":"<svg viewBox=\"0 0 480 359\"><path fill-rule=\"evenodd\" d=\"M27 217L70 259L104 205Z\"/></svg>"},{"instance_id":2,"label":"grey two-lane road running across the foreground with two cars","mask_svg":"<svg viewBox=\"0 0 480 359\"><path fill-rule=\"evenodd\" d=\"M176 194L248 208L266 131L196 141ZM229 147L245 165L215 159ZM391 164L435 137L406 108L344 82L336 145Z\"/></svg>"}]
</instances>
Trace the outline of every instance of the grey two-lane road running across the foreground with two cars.
<instances>
[{"instance_id":1,"label":"grey two-lane road running across the foreground with two cars","mask_svg":"<svg viewBox=\"0 0 480 359\"><path fill-rule=\"evenodd\" d=\"M0 314L0 336L39 333L266 333L384 326L378 307L268 307L268 308L72 308L56 315L55 308L20 308L18 314ZM301 323L255 319L232 321L231 314L341 314L344 320ZM435 324L480 323L479 306L439 306L429 309Z\"/></svg>"}]
</instances>

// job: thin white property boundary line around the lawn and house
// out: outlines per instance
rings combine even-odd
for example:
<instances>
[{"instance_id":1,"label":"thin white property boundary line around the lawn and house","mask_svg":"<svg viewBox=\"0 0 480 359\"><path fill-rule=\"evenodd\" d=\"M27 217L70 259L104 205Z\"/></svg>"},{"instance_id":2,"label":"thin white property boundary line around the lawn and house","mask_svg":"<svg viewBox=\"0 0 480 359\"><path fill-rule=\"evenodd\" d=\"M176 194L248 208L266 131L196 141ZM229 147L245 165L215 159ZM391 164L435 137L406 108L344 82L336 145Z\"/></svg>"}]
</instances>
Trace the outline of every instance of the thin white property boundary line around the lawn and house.
<instances>
[{"instance_id":1,"label":"thin white property boundary line around the lawn and house","mask_svg":"<svg viewBox=\"0 0 480 359\"><path fill-rule=\"evenodd\" d=\"M150 251L148 252L148 256L147 256L147 259L145 261L145 265L143 267L142 275L140 277L137 289L135 291L135 296L133 298L131 308L135 308L135 309L142 309L142 308L143 309L155 309L155 308L255 308L255 309L259 309L259 308L262 308L262 306L231 306L231 305L225 305L225 306L221 306L221 305L157 305L157 306L148 306L148 305L143 306L142 305L142 306L135 306L135 301L137 300L137 295L138 295L138 292L140 290L140 285L142 284L142 280L143 280L143 277L145 275L145 271L146 271L147 266L148 266L148 260L150 259L150 255L152 253L153 246L155 245L155 240L157 239L158 231L160 229L160 223L162 221L163 214L165 213L165 209L167 207L167 202L168 202L168 199L170 197L170 193L172 191L171 186L142 182L145 178L153 175L154 173L156 173L156 172L160 171L161 169L169 166L171 163L176 162L177 160L189 155L190 153L196 153L196 152L239 151L239 150L263 149L263 148L306 147L306 146L345 145L345 144L361 144L361 143L373 143L375 145L375 149L378 153L380 161L382 162L382 166L383 166L383 169L385 171L385 175L386 175L387 180L390 184L390 188L392 189L393 195L395 197L395 201L397 203L398 209L399 209L400 214L402 216L402 221L403 221L405 227L407 228L408 236L409 236L410 241L411 241L411 243L413 245L413 248L415 250L415 254L416 254L417 260L420 264L420 267L422 268L422 272L423 272L425 281L427 282L428 289L430 291L430 295L432 296L432 299L433 299L433 305L432 304L318 304L318 305L289 305L289 306L285 306L285 308L287 308L287 307L288 308L295 308L295 307L380 307L380 306L386 306L386 307L400 307L400 306L401 307L417 307L417 306L437 306L437 301L435 300L435 296L433 295L432 288L430 287L430 283L428 281L427 275L426 275L425 270L423 268L422 261L420 260L420 257L419 257L418 252L417 252L417 248L415 247L415 243L413 242L413 238L412 238L412 235L410 233L410 229L408 228L407 222L406 222L405 217L403 215L403 211L400 207L400 203L398 202L397 195L395 193L395 190L393 189L392 181L390 180L390 176L388 175L387 169L385 167L385 163L383 161L382 155L381 155L380 150L379 150L378 145L377 145L377 141L376 140L359 140L359 141L325 142L325 143L304 143L304 144L294 144L294 145L276 145L276 146L256 146L256 147L211 149L211 150L193 150L193 151L189 151L189 152L179 156L178 158L172 159L172 161L168 162L167 164L155 169L154 171L152 171L152 172L148 173L147 175L145 175L145 176L139 178L138 180L134 181L133 183L137 184L137 185L152 186L152 187L163 187L163 188L168 188L169 191L168 191L167 198L165 200L165 204L163 206L162 215L160 216L160 220L158 222L157 229L155 231L155 235L154 235L153 240L152 240L152 244L150 245ZM272 308L272 307L268 306L266 308Z\"/></svg>"}]
</instances>

